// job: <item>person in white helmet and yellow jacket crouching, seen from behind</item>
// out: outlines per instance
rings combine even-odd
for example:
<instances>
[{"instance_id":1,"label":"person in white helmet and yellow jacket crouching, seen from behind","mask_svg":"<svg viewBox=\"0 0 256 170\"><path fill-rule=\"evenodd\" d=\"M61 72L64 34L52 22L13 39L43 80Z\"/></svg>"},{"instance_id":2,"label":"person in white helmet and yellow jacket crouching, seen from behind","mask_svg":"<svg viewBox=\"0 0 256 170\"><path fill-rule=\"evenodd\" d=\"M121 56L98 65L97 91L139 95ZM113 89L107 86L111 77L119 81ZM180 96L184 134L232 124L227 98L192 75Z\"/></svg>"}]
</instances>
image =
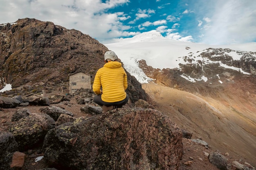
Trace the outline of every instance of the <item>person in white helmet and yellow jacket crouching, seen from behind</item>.
<instances>
[{"instance_id":1,"label":"person in white helmet and yellow jacket crouching, seen from behind","mask_svg":"<svg viewBox=\"0 0 256 170\"><path fill-rule=\"evenodd\" d=\"M125 92L128 86L127 74L117 61L117 55L114 51L107 51L104 60L106 64L97 71L92 85L96 94L94 102L102 106L103 113L121 108L129 100Z\"/></svg>"}]
</instances>

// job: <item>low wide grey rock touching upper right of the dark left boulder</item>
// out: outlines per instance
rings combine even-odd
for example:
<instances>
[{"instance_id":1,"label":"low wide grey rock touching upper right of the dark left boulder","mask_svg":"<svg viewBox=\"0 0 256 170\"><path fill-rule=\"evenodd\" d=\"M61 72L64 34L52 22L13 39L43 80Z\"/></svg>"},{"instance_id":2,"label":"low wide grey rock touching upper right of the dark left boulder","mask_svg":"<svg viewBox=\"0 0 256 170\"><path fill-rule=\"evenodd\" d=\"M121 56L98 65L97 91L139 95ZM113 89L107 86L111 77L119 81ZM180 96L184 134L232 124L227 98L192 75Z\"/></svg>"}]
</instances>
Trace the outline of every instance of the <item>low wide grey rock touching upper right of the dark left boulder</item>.
<instances>
[{"instance_id":1,"label":"low wide grey rock touching upper right of the dark left boulder","mask_svg":"<svg viewBox=\"0 0 256 170\"><path fill-rule=\"evenodd\" d=\"M66 115L69 115L69 116L72 116L72 117L74 116L74 114L71 113L70 111L67 111L67 110L65 110L63 108L60 108L60 107L57 107L57 106L49 106L49 107L46 107L46 108L42 108L41 112L49 115L55 121L58 120L58 117L61 114L66 114Z\"/></svg>"}]
</instances>

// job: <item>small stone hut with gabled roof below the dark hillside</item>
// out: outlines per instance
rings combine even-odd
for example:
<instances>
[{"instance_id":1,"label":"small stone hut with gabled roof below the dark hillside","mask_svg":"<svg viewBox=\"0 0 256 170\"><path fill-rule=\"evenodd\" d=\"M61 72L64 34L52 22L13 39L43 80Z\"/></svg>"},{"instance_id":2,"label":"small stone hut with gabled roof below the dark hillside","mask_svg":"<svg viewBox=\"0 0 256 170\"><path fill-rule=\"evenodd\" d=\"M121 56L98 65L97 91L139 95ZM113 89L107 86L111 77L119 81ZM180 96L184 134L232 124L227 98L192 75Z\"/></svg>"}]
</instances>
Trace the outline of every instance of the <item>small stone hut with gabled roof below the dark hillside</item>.
<instances>
[{"instance_id":1,"label":"small stone hut with gabled roof below the dark hillside","mask_svg":"<svg viewBox=\"0 0 256 170\"><path fill-rule=\"evenodd\" d=\"M74 93L80 88L92 88L91 77L91 75L83 72L70 75L70 94Z\"/></svg>"}]
</instances>

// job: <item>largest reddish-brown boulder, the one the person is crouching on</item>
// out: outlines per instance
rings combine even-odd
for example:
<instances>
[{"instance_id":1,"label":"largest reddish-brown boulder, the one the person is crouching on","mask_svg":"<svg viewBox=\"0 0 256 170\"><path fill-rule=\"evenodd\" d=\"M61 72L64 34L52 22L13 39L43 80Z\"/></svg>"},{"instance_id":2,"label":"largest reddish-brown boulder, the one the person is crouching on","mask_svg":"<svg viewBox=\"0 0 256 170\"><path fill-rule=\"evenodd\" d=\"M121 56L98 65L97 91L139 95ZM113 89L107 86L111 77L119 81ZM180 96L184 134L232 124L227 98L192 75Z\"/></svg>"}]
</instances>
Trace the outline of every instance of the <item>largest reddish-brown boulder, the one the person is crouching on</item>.
<instances>
[{"instance_id":1,"label":"largest reddish-brown boulder, the one the person is crouching on","mask_svg":"<svg viewBox=\"0 0 256 170\"><path fill-rule=\"evenodd\" d=\"M49 130L43 151L57 169L178 170L182 133L153 109L119 108Z\"/></svg>"}]
</instances>

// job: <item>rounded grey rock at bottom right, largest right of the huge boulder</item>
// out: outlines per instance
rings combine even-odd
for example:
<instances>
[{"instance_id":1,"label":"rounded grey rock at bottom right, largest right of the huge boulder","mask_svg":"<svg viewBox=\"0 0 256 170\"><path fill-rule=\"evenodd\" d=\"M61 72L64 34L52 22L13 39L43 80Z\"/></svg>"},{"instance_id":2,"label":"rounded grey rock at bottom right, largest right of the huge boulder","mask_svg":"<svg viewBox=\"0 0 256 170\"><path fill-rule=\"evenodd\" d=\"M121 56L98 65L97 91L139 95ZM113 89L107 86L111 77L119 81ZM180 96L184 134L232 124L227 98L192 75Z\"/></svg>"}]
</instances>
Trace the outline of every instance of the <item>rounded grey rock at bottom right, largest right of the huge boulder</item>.
<instances>
[{"instance_id":1,"label":"rounded grey rock at bottom right, largest right of the huge boulder","mask_svg":"<svg viewBox=\"0 0 256 170\"><path fill-rule=\"evenodd\" d=\"M220 170L227 169L227 158L218 152L211 152L208 156L209 161Z\"/></svg>"}]
</instances>

